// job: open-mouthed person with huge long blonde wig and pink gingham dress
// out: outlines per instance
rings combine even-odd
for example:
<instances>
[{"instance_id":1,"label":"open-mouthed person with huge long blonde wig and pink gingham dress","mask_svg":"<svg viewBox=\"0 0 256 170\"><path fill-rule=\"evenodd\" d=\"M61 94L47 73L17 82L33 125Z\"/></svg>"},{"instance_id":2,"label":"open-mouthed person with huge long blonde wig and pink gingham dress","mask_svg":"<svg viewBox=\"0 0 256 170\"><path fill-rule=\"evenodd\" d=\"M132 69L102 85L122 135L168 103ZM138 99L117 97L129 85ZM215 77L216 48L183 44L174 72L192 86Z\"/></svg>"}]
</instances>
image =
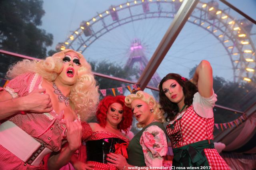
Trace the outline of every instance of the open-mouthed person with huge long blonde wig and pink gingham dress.
<instances>
[{"instance_id":1,"label":"open-mouthed person with huge long blonde wig and pink gingham dress","mask_svg":"<svg viewBox=\"0 0 256 170\"><path fill-rule=\"evenodd\" d=\"M48 102L52 103L48 107L53 109L36 113L40 111L30 108L1 115L0 166L38 169L46 154L60 151L68 141L68 146L51 158L54 162L67 163L81 144L80 119L86 121L92 117L98 103L98 87L90 64L81 53L66 49L45 60L20 61L9 69L7 77L12 80L0 89L0 101L45 89L36 92L46 91ZM33 101L35 95L30 96ZM49 168L54 169L54 164Z\"/></svg>"}]
</instances>

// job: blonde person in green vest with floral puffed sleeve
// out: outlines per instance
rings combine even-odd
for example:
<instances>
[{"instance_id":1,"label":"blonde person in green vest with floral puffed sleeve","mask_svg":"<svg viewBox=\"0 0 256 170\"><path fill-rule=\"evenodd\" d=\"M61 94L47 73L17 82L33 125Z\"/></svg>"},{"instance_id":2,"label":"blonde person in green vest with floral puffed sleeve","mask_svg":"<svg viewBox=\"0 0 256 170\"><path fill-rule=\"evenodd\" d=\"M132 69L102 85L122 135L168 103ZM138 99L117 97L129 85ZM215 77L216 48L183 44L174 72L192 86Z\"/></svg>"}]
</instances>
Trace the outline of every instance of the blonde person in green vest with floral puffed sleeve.
<instances>
[{"instance_id":1,"label":"blonde person in green vest with floral puffed sleeve","mask_svg":"<svg viewBox=\"0 0 256 170\"><path fill-rule=\"evenodd\" d=\"M164 115L156 100L143 91L130 94L125 98L125 105L132 109L137 127L142 128L130 141L127 152L128 160L120 155L108 154L108 161L119 170L138 167L162 167L167 153L167 140L163 126Z\"/></svg>"}]
</instances>

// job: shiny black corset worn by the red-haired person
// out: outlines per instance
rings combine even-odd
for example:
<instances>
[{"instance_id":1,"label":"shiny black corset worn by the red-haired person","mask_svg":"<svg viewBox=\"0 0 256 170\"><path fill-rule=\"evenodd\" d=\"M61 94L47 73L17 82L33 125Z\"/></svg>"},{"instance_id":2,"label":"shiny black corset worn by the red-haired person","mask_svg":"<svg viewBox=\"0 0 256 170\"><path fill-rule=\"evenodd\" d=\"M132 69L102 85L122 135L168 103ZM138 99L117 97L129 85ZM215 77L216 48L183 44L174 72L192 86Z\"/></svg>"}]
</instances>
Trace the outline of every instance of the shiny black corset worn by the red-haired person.
<instances>
[{"instance_id":1,"label":"shiny black corset worn by the red-haired person","mask_svg":"<svg viewBox=\"0 0 256 170\"><path fill-rule=\"evenodd\" d=\"M86 161L95 161L106 164L107 154L115 152L115 144L126 143L120 138L105 138L100 140L89 140L86 142Z\"/></svg>"}]
</instances>

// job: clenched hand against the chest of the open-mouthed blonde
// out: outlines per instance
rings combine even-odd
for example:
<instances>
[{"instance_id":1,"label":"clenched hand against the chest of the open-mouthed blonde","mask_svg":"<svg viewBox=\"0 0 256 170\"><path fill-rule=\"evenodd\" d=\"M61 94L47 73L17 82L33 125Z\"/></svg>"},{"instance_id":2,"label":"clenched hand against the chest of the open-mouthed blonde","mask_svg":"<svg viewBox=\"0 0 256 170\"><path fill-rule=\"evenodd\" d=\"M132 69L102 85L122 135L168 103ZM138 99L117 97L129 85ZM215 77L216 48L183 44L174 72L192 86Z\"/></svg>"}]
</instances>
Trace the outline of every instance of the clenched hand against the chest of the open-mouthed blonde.
<instances>
[{"instance_id":1,"label":"clenched hand against the chest of the open-mouthed blonde","mask_svg":"<svg viewBox=\"0 0 256 170\"><path fill-rule=\"evenodd\" d=\"M20 97L19 103L22 106L22 111L32 113L47 113L52 111L52 101L45 91L45 89L34 89L28 95Z\"/></svg>"}]
</instances>

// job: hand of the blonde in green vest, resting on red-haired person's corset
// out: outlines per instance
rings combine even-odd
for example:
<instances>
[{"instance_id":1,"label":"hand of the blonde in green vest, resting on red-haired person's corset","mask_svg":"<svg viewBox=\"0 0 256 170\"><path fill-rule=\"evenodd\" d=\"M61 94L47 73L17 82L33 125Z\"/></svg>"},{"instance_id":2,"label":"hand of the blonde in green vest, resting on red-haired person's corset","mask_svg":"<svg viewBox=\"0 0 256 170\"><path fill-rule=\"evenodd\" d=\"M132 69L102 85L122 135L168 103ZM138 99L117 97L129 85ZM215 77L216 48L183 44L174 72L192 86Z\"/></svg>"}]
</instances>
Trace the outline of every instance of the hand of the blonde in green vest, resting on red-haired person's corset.
<instances>
[{"instance_id":1,"label":"hand of the blonde in green vest, resting on red-haired person's corset","mask_svg":"<svg viewBox=\"0 0 256 170\"><path fill-rule=\"evenodd\" d=\"M108 164L115 166L118 170L122 170L127 164L126 158L121 154L114 154L110 152L107 156Z\"/></svg>"}]
</instances>

